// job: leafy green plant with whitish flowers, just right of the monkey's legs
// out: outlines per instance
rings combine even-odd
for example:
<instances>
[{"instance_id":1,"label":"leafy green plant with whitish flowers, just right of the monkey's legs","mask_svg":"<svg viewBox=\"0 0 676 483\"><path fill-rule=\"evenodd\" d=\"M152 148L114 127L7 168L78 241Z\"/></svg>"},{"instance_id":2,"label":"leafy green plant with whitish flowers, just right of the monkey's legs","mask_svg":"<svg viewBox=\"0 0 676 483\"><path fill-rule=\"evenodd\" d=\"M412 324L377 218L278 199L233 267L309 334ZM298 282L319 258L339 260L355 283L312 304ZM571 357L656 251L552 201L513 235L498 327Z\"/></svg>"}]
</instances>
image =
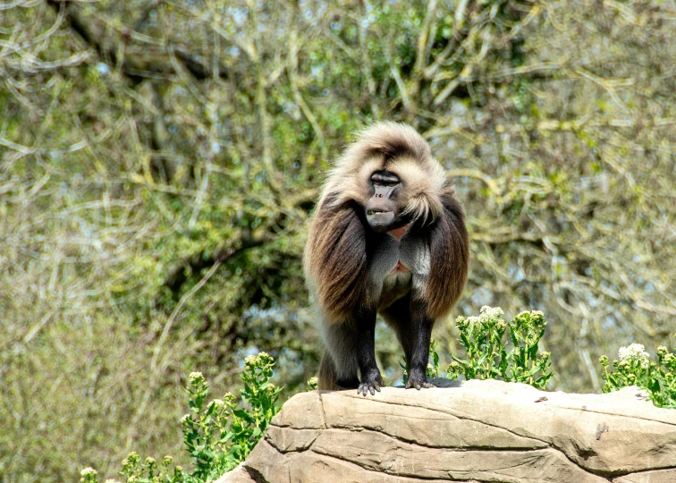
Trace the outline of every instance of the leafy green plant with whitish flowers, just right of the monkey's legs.
<instances>
[{"instance_id":1,"label":"leafy green plant with whitish flowers, just right of the monkey's legs","mask_svg":"<svg viewBox=\"0 0 676 483\"><path fill-rule=\"evenodd\" d=\"M457 379L501 378L522 382L543 389L553 372L549 352L538 352L538 343L545 334L545 317L539 310L521 312L509 324L503 309L482 307L478 317L458 317L456 326L467 359L452 355L446 377ZM511 349L503 340L509 329Z\"/></svg>"}]
</instances>

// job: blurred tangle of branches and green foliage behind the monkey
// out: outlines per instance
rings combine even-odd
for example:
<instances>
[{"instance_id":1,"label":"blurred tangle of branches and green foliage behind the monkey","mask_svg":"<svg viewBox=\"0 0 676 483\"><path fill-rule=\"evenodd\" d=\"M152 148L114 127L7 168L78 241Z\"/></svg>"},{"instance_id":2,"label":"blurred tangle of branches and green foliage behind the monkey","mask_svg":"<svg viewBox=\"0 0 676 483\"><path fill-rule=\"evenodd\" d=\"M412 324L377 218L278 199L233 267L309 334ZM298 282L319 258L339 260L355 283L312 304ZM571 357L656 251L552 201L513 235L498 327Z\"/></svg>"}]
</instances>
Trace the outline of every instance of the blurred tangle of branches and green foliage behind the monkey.
<instances>
[{"instance_id":1,"label":"blurred tangle of branches and green foliage behind the monkey","mask_svg":"<svg viewBox=\"0 0 676 483\"><path fill-rule=\"evenodd\" d=\"M676 330L674 58L672 0L4 0L0 480L182 462L190 371L217 397L266 351L303 390L308 219L376 120L467 211L442 355L459 314L541 309L551 389L599 392L601 354Z\"/></svg>"}]
</instances>

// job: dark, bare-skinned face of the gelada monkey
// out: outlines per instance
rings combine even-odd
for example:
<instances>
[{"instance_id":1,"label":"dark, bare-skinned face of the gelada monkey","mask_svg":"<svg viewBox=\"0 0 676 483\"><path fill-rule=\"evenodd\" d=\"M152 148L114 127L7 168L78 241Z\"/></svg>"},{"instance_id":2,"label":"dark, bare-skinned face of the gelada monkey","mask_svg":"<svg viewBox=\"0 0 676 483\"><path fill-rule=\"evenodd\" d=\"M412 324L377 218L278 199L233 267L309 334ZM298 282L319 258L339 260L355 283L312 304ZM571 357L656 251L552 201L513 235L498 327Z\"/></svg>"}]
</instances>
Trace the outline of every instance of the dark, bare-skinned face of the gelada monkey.
<instances>
[{"instance_id":1,"label":"dark, bare-skinned face of the gelada monkey","mask_svg":"<svg viewBox=\"0 0 676 483\"><path fill-rule=\"evenodd\" d=\"M410 221L403 213L406 206L403 182L393 172L383 170L371 174L370 195L366 215L374 232L386 233Z\"/></svg>"}]
</instances>

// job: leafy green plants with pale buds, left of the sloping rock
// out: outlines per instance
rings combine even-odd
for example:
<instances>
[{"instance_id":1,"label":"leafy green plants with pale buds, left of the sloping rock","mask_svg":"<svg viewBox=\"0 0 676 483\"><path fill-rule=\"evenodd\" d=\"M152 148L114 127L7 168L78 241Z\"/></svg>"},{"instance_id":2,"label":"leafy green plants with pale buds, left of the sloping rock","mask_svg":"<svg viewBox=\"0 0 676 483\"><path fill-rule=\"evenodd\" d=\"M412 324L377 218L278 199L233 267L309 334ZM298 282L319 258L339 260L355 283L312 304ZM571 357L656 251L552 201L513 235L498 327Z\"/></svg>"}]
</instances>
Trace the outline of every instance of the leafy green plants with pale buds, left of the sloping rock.
<instances>
[{"instance_id":1,"label":"leafy green plants with pale buds, left of the sloping rock","mask_svg":"<svg viewBox=\"0 0 676 483\"><path fill-rule=\"evenodd\" d=\"M195 470L186 473L181 466L171 465L171 456L161 464L146 458L140 464L139 454L130 453L122 462L120 474L126 483L203 483L232 470L249 455L263 436L270 420L280 410L277 404L281 387L270 382L275 360L260 352L244 360L240 391L241 402L233 394L208 402L209 385L201 372L192 372L186 391L190 412L181 419L183 444L190 453ZM98 483L97 471L86 468L80 472L81 483ZM106 483L115 483L107 480Z\"/></svg>"}]
</instances>

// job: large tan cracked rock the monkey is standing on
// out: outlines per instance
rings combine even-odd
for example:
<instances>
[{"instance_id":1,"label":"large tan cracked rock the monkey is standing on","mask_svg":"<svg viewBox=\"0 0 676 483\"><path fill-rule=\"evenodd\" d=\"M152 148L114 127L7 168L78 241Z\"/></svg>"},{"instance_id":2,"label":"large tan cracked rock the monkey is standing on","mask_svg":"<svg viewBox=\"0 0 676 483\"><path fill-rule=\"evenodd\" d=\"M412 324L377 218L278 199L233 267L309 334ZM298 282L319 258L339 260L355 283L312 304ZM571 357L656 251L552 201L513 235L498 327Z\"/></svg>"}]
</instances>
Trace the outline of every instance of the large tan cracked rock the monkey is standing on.
<instances>
[{"instance_id":1,"label":"large tan cracked rock the monkey is standing on","mask_svg":"<svg viewBox=\"0 0 676 483\"><path fill-rule=\"evenodd\" d=\"M636 387L565 394L445 382L366 398L297 394L218 483L676 482L676 410Z\"/></svg>"}]
</instances>

